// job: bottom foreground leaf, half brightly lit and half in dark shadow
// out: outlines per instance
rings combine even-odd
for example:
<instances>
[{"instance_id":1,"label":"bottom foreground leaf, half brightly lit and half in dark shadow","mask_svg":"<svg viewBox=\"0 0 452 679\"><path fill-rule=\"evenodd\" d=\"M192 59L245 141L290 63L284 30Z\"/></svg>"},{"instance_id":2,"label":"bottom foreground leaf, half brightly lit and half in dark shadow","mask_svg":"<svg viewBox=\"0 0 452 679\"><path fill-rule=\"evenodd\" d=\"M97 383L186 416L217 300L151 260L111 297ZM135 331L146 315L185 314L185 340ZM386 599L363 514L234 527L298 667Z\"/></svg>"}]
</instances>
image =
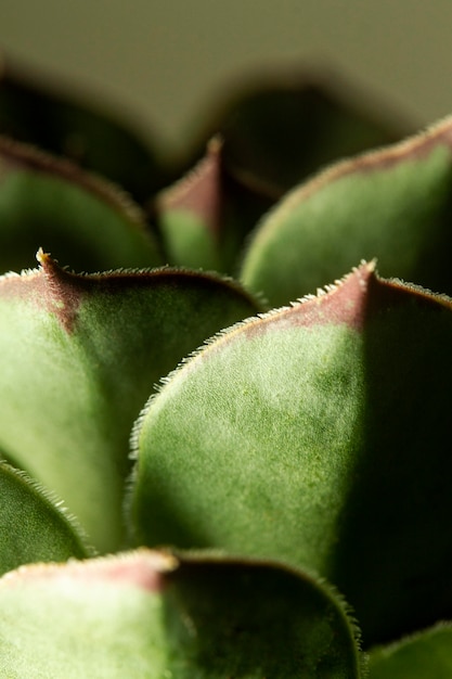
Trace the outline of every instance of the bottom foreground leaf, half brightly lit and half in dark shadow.
<instances>
[{"instance_id":1,"label":"bottom foreground leaf, half brightly lit and half in dark shadow","mask_svg":"<svg viewBox=\"0 0 452 679\"><path fill-rule=\"evenodd\" d=\"M353 626L313 578L145 550L1 579L0 664L11 679L362 676Z\"/></svg>"}]
</instances>

